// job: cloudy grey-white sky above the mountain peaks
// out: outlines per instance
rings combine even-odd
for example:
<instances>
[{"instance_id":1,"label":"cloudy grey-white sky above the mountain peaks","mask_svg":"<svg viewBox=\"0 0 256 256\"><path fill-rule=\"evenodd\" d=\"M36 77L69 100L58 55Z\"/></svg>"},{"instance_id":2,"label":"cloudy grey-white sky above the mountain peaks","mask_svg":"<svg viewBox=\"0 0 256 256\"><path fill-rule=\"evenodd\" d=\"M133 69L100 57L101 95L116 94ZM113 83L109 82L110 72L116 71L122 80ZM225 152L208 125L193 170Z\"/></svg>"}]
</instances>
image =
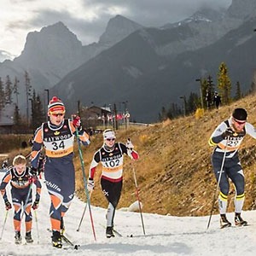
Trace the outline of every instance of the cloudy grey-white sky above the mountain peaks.
<instances>
[{"instance_id":1,"label":"cloudy grey-white sky above the mountain peaks","mask_svg":"<svg viewBox=\"0 0 256 256\"><path fill-rule=\"evenodd\" d=\"M162 26L193 15L202 6L232 0L1 0L0 50L20 55L28 32L62 21L82 44L97 42L108 20L123 15L143 26Z\"/></svg>"}]
</instances>

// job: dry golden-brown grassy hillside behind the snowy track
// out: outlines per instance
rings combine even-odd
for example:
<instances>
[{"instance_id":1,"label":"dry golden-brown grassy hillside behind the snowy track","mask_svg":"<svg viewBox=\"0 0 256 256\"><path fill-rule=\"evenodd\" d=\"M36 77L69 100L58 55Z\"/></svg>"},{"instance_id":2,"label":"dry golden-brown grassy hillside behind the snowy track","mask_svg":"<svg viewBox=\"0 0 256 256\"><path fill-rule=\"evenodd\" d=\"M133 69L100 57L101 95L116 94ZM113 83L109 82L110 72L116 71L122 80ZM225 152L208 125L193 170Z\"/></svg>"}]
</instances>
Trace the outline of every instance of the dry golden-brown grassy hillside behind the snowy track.
<instances>
[{"instance_id":1,"label":"dry golden-brown grassy hillside behind the snowy track","mask_svg":"<svg viewBox=\"0 0 256 256\"><path fill-rule=\"evenodd\" d=\"M124 186L119 207L129 207L137 200L132 168L137 173L143 212L170 213L177 216L208 215L212 207L216 181L211 166L212 148L207 141L215 127L230 117L234 108L246 108L248 122L256 125L256 97L247 96L229 107L206 111L201 119L188 116L168 120L148 127L117 131L117 141L125 143L130 137L140 159L131 161L125 157ZM256 163L253 138L245 137L240 149L241 164L246 177L246 201L244 210L256 208ZM86 177L94 152L102 146L102 135L91 137L90 147L84 149ZM79 155L77 167L77 195L84 196L83 176ZM133 166L134 165L134 166ZM96 172L96 188L91 196L94 206L107 207L100 189L100 168ZM233 211L235 191L230 186L229 211ZM218 213L217 204L214 213Z\"/></svg>"}]
</instances>

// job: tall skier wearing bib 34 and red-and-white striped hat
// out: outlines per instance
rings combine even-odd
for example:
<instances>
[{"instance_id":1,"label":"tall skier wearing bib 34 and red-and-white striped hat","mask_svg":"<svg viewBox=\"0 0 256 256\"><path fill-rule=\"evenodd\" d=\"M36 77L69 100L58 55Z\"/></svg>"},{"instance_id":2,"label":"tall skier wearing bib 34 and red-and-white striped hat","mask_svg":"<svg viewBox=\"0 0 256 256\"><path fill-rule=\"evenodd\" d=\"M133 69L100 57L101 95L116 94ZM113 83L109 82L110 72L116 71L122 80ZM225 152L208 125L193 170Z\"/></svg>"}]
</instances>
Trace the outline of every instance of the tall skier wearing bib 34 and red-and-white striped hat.
<instances>
[{"instance_id":1,"label":"tall skier wearing bib 34 and red-and-white striped hat","mask_svg":"<svg viewBox=\"0 0 256 256\"><path fill-rule=\"evenodd\" d=\"M75 171L73 166L73 140L76 129L80 141L89 145L87 133L82 130L79 116L73 120L64 119L66 108L54 96L48 105L49 121L35 132L32 146L32 166L38 168L42 147L45 148L44 178L50 196L49 216L53 247L62 247L64 232L63 217L73 200L75 191Z\"/></svg>"}]
</instances>

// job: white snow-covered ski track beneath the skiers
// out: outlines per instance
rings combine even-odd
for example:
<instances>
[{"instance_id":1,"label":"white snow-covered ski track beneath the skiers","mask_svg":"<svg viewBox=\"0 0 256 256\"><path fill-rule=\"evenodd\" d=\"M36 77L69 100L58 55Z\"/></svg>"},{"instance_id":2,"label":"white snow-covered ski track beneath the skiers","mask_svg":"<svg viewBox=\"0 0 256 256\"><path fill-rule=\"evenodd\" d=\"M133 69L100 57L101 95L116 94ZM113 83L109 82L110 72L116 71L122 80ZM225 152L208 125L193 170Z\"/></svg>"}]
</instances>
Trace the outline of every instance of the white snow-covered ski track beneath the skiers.
<instances>
[{"instance_id":1,"label":"white snow-covered ski track beneath the skiers","mask_svg":"<svg viewBox=\"0 0 256 256\"><path fill-rule=\"evenodd\" d=\"M2 179L3 172L0 172ZM171 215L159 215L153 213L143 214L143 222L139 212L128 212L127 207L133 202L127 202L127 207L118 209L115 213L115 229L122 237L105 237L106 209L91 206L93 224L96 231L94 239L90 214L84 213L84 219L79 227L80 219L84 211L85 203L77 197L74 198L64 221L66 236L74 244L79 245L78 250L63 242L63 248L51 246L51 233L49 233L49 195L44 184L41 201L37 210L37 222L35 213L32 212L34 223L32 226L32 238L34 242L25 244L24 222L21 226L21 245L15 245L13 227L13 209L9 210L5 227L3 221L6 216L3 200L0 198L0 255L25 256L25 255L90 255L90 256L251 256L256 252L256 211L242 212L242 217L247 220L248 226L234 226L234 213L227 213L232 226L226 229L219 228L219 216L213 215L210 227L207 230L209 216L204 217L176 217ZM125 185L125 183L124 183ZM139 186L139 184L138 184ZM7 188L9 195L9 187ZM212 188L213 191L213 188ZM34 193L33 193L34 195ZM93 196L93 194L91 195ZM103 195L102 195L103 196ZM10 199L10 196L9 196ZM142 203L146 198L141 198ZM136 198L135 198L136 201ZM210 209L209 209L210 212ZM143 232L143 225L145 235ZM77 231L79 229L79 231ZM132 237L131 237L132 235Z\"/></svg>"}]
</instances>

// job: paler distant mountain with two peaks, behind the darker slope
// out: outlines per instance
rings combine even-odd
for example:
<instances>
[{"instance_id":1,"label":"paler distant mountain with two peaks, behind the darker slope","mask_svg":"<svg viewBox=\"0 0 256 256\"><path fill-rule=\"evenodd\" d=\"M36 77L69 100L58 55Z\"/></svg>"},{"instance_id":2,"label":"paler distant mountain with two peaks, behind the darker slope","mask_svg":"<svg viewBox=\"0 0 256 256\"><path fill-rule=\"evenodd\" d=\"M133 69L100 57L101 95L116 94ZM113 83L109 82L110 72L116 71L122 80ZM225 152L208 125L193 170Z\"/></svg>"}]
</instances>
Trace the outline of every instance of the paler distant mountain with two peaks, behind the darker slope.
<instances>
[{"instance_id":1,"label":"paler distant mountain with two peaks, behind the darker slope","mask_svg":"<svg viewBox=\"0 0 256 256\"><path fill-rule=\"evenodd\" d=\"M25 48L14 61L0 63L0 77L4 80L9 75L11 79L16 77L20 84L25 84L24 73L27 71L32 88L42 94L44 89L50 89L67 73L141 27L117 15L109 20L99 43L83 46L61 21L45 26L40 32L28 33ZM25 101L24 94L20 90L20 102Z\"/></svg>"}]
</instances>

